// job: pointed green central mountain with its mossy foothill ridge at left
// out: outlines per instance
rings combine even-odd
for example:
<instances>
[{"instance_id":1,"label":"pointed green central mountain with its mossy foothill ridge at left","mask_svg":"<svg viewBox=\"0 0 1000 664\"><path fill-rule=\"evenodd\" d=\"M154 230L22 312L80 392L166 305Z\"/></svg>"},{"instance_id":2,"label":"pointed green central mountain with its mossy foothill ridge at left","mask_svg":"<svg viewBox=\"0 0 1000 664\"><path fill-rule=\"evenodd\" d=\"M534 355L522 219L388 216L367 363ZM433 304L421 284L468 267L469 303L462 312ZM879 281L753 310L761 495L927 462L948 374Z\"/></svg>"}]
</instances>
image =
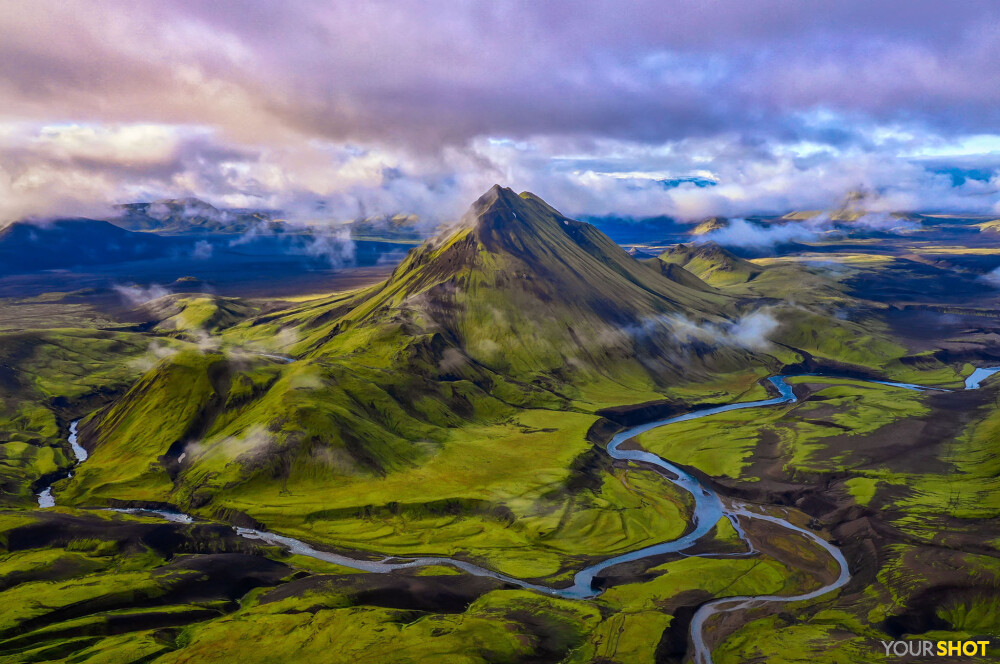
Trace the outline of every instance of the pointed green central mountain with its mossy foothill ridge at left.
<instances>
[{"instance_id":1,"label":"pointed green central mountain with its mossy foothill ridge at left","mask_svg":"<svg viewBox=\"0 0 1000 664\"><path fill-rule=\"evenodd\" d=\"M158 359L84 423L94 453L68 493L197 506L237 485L418 466L451 430L521 409L654 399L682 375L765 361L671 331L673 321L723 326L734 302L634 260L531 194L494 187L382 284L235 326L249 313L236 303L164 302L174 320L225 312L227 329ZM247 348L300 359L237 352Z\"/></svg>"}]
</instances>

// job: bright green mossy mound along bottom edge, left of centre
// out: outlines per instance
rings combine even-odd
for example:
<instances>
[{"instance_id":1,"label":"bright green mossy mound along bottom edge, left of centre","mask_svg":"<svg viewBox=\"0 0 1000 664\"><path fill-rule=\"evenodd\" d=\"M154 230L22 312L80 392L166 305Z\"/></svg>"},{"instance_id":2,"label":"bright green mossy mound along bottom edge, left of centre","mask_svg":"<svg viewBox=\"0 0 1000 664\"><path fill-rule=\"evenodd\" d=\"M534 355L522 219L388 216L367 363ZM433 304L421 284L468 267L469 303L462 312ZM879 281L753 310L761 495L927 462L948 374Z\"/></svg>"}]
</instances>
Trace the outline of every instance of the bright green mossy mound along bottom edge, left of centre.
<instances>
[{"instance_id":1,"label":"bright green mossy mound along bottom edge, left of centre","mask_svg":"<svg viewBox=\"0 0 1000 664\"><path fill-rule=\"evenodd\" d=\"M539 652L565 655L600 620L586 604L522 591L489 593L452 615L320 608L315 596L304 599L313 611L297 612L291 602L263 604L190 627L180 639L184 647L160 661L513 663Z\"/></svg>"}]
</instances>

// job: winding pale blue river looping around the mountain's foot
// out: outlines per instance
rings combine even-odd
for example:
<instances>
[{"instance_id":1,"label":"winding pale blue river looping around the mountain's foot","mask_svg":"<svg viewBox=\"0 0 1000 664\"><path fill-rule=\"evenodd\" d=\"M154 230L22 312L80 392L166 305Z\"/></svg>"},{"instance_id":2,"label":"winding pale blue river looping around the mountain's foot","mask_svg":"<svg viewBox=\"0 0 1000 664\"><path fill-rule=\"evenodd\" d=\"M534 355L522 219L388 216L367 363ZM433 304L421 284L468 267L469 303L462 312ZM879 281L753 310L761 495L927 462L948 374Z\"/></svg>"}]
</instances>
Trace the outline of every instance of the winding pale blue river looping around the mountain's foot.
<instances>
[{"instance_id":1,"label":"winding pale blue river looping around the mountain's foot","mask_svg":"<svg viewBox=\"0 0 1000 664\"><path fill-rule=\"evenodd\" d=\"M284 362L291 362L294 358L289 358L286 356L278 355L265 355L275 360L281 360ZM980 368L976 369L965 381L965 389L978 389L982 382L992 376L993 374L1000 372L1000 367L992 368ZM652 454L651 452L645 452L642 450L626 450L622 449L622 445L636 436L652 431L662 426L667 426L669 424L674 424L677 422L687 422L690 420L700 419L703 417L708 417L710 415L717 415L719 413L727 413L734 410L743 410L747 408L762 408L765 406L775 406L784 403L792 403L796 401L792 387L786 382L789 378L800 378L800 377L826 377L826 378L845 378L847 380L861 381L858 378L848 378L835 375L827 374L796 374L793 376L772 376L767 380L774 386L778 391L778 396L770 399L762 399L759 401L744 401L739 403L726 404L724 406L715 406L711 408L704 408L700 410L694 410L683 415L677 415L675 417L669 417L665 419L656 420L653 422L648 422L646 424L640 424L638 426L631 427L624 431L621 431L611 439L607 445L608 455L613 459L621 459L625 461L638 461L645 464L654 466L659 469L661 473L669 479L671 482L681 487L685 491L689 492L694 497L694 508L691 516L691 526L690 529L681 537L669 542L661 542L659 544L654 544L652 546L647 546L636 551L631 551L613 558L608 558L599 563L586 567L576 573L573 577L573 584L565 588L550 588L548 586L543 586L539 584L530 583L522 579L517 579L514 577L495 572L493 570L486 569L485 567L480 567L478 565L473 565L462 560L455 560L453 558L437 558L437 557L424 557L424 558L394 558L386 557L382 560L362 560L357 558L352 558L350 556L345 556L336 553L329 553L326 551L320 551L313 548L309 544L297 540L291 537L286 537L284 535L278 535L277 533L272 533L264 530L255 530L252 528L239 528L237 527L236 532L247 539L259 540L266 542L268 544L282 546L288 549L290 552L308 556L310 558L315 558L317 560L322 560L330 563L336 563L338 565L343 565L344 567L349 567L352 569L363 570L366 572L375 573L389 573L401 569L409 569L413 567L425 567L429 565L450 565L461 569L469 574L474 574L476 576L490 577L493 579L498 579L506 583L520 586L522 588L527 588L531 590L536 590L548 595L553 595L556 597L563 597L569 599L585 599L589 597L594 597L601 593L601 590L595 590L593 587L594 579L604 570L625 562L630 562L634 560L642 560L643 558L648 558L651 556L657 556L665 553L680 552L689 547L691 547L695 542L708 534L712 530L713 526L719 522L722 518L728 518L732 522L733 527L736 532L740 535L741 539L750 546L752 549L752 544L747 538L746 534L741 528L739 518L742 517L746 520L761 520L768 521L777 524L786 530L790 530L795 533L799 533L805 536L807 539L815 543L817 546L826 550L827 553L836 561L839 567L839 575L832 583L824 585L815 590L803 593L800 595L758 595L758 596L745 596L745 597L724 597L715 599L705 604L701 605L695 612L691 619L690 627L690 638L692 644L692 655L695 664L712 664L712 654L711 649L705 643L704 631L706 622L713 616L719 613L726 613L729 611L738 611L741 609L751 608L768 602L798 602L803 600L814 599L825 595L829 592L837 590L838 588L844 586L851 578L850 570L847 565L847 561L844 559L844 554L830 544L820 536L815 533L796 526L789 521L782 519L777 516L772 516L769 514L761 514L758 512L753 512L747 509L745 506L737 504L727 504L722 500L722 498L712 491L710 488L706 487L697 478L695 478L690 473L684 471L682 468L675 466L666 459ZM863 382L878 383L880 385L888 385L892 387L898 387L906 390L924 391L924 390L941 390L947 391L943 388L935 387L925 387L921 385L914 385L912 383L895 383L891 381L878 381L878 380L866 380ZM77 464L82 463L87 459L87 451L77 443L77 424L79 420L73 422L70 425L68 442L76 455ZM75 467L75 466L74 466ZM70 475L72 476L72 475ZM52 485L45 487L38 494L38 506L41 508L53 507L55 505L55 498L52 495ZM190 515L183 514L180 512L172 512L168 510L148 510L148 509L115 509L118 512L127 513L142 513L142 514L153 514L159 516L160 518L166 519L168 521L173 521L176 523L191 523L194 518Z\"/></svg>"}]
</instances>

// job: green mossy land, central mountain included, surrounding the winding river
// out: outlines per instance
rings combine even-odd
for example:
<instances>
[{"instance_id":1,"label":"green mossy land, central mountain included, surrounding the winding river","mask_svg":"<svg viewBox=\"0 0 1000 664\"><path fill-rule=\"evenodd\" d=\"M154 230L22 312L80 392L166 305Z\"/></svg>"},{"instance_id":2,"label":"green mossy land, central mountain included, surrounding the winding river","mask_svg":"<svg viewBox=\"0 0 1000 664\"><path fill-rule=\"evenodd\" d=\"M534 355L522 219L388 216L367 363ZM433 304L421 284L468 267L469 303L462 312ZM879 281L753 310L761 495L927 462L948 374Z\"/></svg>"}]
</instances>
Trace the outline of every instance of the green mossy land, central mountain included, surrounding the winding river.
<instances>
[{"instance_id":1,"label":"green mossy land, central mountain included, surrounding the winding river","mask_svg":"<svg viewBox=\"0 0 1000 664\"><path fill-rule=\"evenodd\" d=\"M914 309L858 286L907 259L858 252L636 260L494 187L385 281L11 300L32 315L0 332L0 657L680 662L697 637L716 662L833 662L991 633L998 397L961 388L995 320L967 300L983 329L908 334ZM842 551L844 582L781 523ZM715 598L811 591L690 631Z\"/></svg>"}]
</instances>

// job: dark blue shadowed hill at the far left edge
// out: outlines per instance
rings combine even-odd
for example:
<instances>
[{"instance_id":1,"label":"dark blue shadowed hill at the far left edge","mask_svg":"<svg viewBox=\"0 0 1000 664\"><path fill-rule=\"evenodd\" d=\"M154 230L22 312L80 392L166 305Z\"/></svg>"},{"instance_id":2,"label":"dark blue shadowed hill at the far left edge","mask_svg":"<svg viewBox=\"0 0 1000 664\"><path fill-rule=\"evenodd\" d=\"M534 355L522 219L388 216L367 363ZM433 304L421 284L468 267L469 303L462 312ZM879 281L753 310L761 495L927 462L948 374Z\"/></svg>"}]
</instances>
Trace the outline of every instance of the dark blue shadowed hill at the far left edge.
<instances>
[{"instance_id":1,"label":"dark blue shadowed hill at the far left edge","mask_svg":"<svg viewBox=\"0 0 1000 664\"><path fill-rule=\"evenodd\" d=\"M0 274L160 258L172 246L97 219L19 221L0 229Z\"/></svg>"}]
</instances>

